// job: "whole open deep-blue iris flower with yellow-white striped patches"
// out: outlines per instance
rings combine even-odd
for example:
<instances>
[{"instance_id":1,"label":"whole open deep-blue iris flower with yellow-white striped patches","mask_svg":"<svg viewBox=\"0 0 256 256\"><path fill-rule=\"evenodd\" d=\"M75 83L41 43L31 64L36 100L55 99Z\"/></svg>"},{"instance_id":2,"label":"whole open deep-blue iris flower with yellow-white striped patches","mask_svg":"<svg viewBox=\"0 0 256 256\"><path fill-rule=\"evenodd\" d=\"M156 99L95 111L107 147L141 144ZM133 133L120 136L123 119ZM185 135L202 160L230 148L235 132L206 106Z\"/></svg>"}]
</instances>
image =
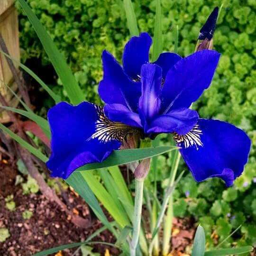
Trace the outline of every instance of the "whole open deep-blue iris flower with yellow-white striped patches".
<instances>
[{"instance_id":1,"label":"whole open deep-blue iris flower with yellow-white striped patches","mask_svg":"<svg viewBox=\"0 0 256 256\"><path fill-rule=\"evenodd\" d=\"M230 186L242 174L251 144L246 133L226 122L200 119L190 109L210 86L220 54L201 50L182 58L162 53L149 63L151 43L147 33L132 37L123 67L103 52L99 94L104 108L61 102L49 110L52 176L65 179L82 165L103 161L131 133L150 138L172 133L198 182L219 177Z\"/></svg>"}]
</instances>

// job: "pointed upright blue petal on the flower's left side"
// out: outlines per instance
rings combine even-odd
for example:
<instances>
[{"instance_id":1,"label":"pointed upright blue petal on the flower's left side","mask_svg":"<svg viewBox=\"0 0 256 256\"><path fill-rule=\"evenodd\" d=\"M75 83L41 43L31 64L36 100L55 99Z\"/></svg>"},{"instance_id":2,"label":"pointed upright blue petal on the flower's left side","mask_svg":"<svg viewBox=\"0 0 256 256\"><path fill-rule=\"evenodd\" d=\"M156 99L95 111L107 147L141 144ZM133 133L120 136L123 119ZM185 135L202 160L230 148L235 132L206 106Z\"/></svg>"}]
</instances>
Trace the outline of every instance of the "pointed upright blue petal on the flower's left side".
<instances>
[{"instance_id":1,"label":"pointed upright blue petal on the flower's left side","mask_svg":"<svg viewBox=\"0 0 256 256\"><path fill-rule=\"evenodd\" d=\"M103 79L99 84L101 99L108 104L122 104L137 110L141 94L140 82L131 81L120 64L107 51L102 53Z\"/></svg>"}]
</instances>

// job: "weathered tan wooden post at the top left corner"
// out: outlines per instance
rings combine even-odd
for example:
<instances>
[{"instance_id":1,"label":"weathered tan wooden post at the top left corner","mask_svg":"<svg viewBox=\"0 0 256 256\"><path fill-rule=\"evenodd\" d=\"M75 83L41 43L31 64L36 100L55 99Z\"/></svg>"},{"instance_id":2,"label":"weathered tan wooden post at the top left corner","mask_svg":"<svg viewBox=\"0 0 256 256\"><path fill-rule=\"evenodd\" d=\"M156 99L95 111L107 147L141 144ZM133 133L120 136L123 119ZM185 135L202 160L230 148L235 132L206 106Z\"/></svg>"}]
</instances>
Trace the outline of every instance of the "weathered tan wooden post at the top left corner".
<instances>
[{"instance_id":1,"label":"weathered tan wooden post at the top left corner","mask_svg":"<svg viewBox=\"0 0 256 256\"><path fill-rule=\"evenodd\" d=\"M16 60L20 60L18 40L18 15L14 7L15 0L0 0L0 33L8 48L9 54ZM18 69L18 65L15 64ZM17 100L10 93L6 85L13 91L17 91L17 84L14 82L12 73L3 55L0 55L0 92L10 106L17 105ZM0 113L0 122L9 121L6 112Z\"/></svg>"}]
</instances>

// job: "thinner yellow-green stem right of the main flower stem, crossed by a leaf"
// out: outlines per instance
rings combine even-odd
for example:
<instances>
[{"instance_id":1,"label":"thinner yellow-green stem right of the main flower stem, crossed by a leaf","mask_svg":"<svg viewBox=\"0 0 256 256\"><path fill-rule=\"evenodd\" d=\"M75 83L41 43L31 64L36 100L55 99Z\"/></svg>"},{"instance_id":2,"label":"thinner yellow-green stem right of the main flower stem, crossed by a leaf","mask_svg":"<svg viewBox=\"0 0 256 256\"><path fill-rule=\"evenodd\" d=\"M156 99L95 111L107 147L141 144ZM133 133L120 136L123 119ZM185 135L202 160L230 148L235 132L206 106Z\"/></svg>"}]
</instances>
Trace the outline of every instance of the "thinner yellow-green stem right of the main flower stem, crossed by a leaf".
<instances>
[{"instance_id":1,"label":"thinner yellow-green stem right of the main flower stem, crossed by a leaf","mask_svg":"<svg viewBox=\"0 0 256 256\"><path fill-rule=\"evenodd\" d=\"M168 187L174 185L175 176L178 170L178 166L180 163L181 154L178 150L174 153L174 161L172 164L172 170L168 181ZM163 238L163 255L167 255L170 249L170 239L172 233L172 224L173 224L173 197L169 196L169 202L166 207L169 205L167 214L165 217L164 223L164 238Z\"/></svg>"}]
</instances>

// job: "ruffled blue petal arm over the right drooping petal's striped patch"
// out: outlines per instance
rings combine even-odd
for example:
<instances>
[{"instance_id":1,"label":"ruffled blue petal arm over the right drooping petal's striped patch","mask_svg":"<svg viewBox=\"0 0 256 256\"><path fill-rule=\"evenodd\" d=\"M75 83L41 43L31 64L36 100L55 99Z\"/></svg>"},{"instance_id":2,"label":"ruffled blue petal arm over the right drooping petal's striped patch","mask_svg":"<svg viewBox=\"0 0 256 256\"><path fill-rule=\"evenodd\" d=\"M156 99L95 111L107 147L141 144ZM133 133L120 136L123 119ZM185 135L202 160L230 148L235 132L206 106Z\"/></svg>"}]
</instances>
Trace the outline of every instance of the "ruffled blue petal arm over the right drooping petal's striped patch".
<instances>
[{"instance_id":1,"label":"ruffled blue petal arm over the right drooping petal's striped patch","mask_svg":"<svg viewBox=\"0 0 256 256\"><path fill-rule=\"evenodd\" d=\"M198 113L190 109L172 110L168 114L156 117L147 130L147 133L186 134L198 120Z\"/></svg>"}]
</instances>

